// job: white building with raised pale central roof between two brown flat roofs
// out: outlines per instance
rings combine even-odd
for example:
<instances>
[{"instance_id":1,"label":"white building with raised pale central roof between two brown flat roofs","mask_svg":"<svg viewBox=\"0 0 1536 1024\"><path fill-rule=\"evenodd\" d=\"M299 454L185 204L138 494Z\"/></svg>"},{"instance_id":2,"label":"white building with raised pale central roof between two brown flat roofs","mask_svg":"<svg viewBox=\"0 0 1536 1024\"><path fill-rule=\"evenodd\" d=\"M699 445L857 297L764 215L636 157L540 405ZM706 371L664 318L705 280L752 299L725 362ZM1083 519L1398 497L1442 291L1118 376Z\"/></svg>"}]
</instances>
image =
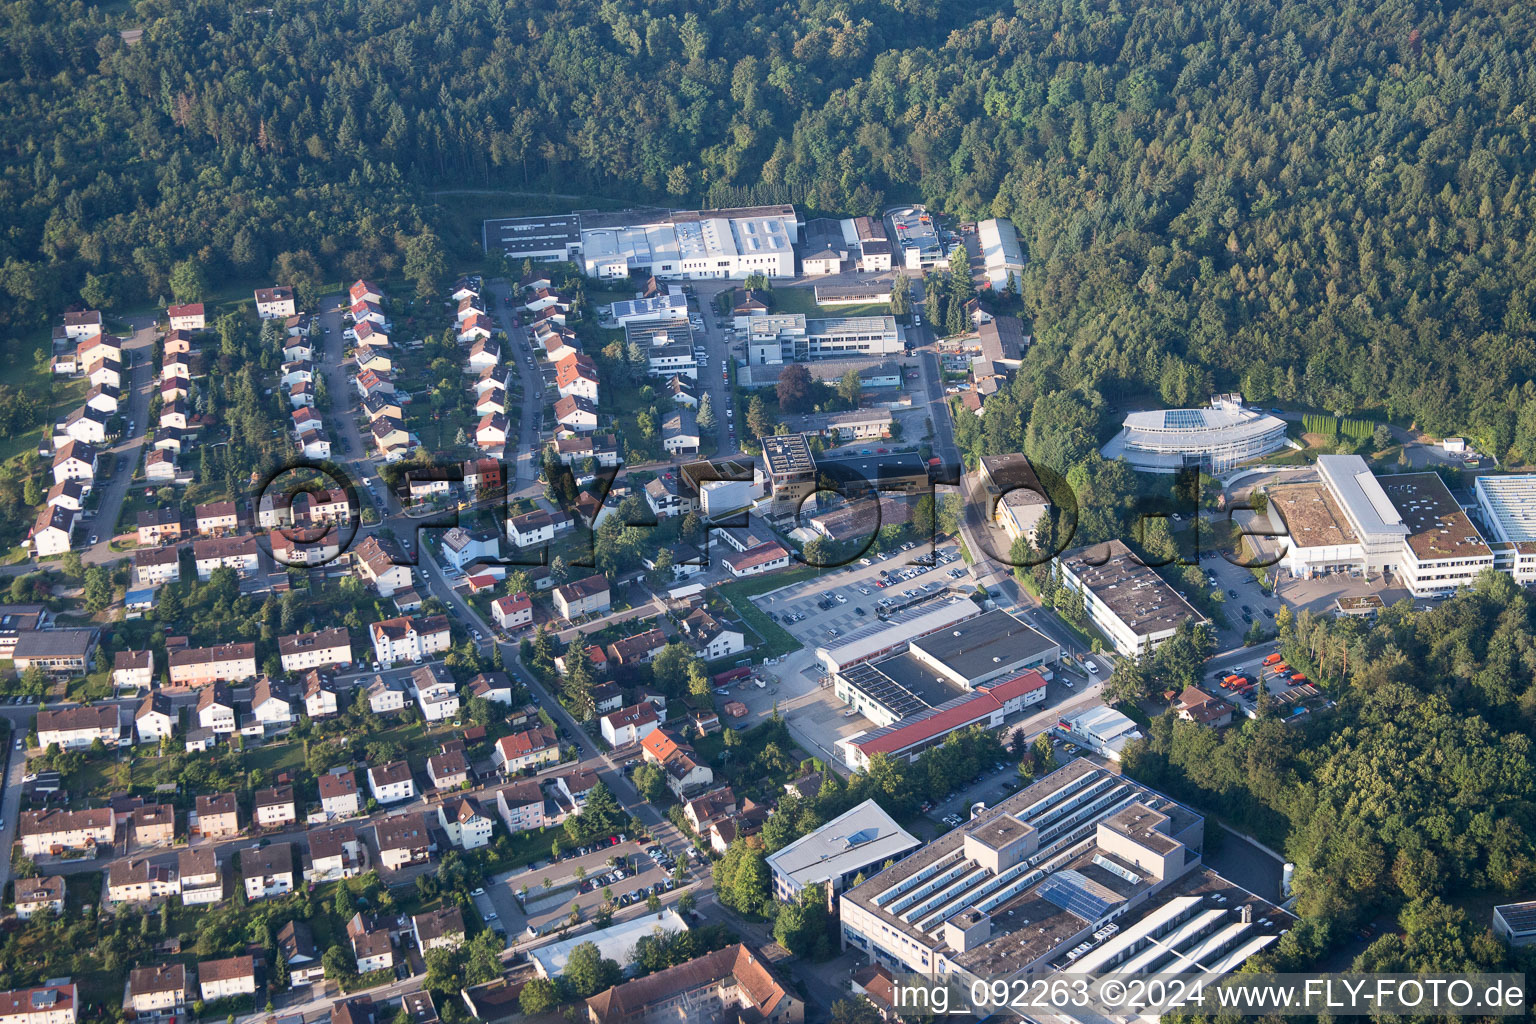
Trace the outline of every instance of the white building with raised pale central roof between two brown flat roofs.
<instances>
[{"instance_id":1,"label":"white building with raised pale central roof between two brown flat roofs","mask_svg":"<svg viewBox=\"0 0 1536 1024\"><path fill-rule=\"evenodd\" d=\"M1358 454L1318 456L1318 482L1266 488L1275 510L1270 522L1284 530L1279 565L1295 577L1355 573L1393 574L1415 597L1444 597L1468 586L1478 573L1496 567L1495 548L1435 473L1378 477ZM1498 487L1487 491L1496 522ZM1508 499L1516 491L1508 491ZM1279 522L1275 522L1275 520ZM1518 528L1514 520L1505 530ZM1513 534L1511 534L1513 536ZM1518 567L1519 548L1504 542L1499 568ZM1536 548L1533 548L1536 559ZM1508 571L1507 568L1507 571ZM1533 563L1536 568L1536 563Z\"/></svg>"}]
</instances>

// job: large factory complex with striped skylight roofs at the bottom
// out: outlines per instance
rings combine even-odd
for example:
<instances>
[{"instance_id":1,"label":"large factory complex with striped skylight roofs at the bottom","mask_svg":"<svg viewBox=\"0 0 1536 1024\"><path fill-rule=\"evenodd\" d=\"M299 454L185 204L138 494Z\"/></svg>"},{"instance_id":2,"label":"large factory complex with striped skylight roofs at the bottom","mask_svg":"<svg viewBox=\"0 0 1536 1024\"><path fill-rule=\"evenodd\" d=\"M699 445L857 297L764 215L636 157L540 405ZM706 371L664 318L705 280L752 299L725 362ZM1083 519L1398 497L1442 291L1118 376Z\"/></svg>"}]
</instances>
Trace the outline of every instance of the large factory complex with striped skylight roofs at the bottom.
<instances>
[{"instance_id":1,"label":"large factory complex with striped skylight roofs at the bottom","mask_svg":"<svg viewBox=\"0 0 1536 1024\"><path fill-rule=\"evenodd\" d=\"M1201 863L1204 820L1075 758L840 900L843 946L900 973L1229 972L1289 915Z\"/></svg>"}]
</instances>

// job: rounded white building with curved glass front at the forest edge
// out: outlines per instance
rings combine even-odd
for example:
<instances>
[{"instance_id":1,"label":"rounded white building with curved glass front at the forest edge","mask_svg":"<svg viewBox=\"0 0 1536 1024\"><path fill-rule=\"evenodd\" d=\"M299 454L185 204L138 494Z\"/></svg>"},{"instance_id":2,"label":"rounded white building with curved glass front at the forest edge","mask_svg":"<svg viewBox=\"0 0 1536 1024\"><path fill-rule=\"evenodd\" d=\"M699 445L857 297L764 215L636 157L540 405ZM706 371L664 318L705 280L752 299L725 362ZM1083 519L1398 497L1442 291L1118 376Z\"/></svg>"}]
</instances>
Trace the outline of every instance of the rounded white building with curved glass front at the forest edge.
<instances>
[{"instance_id":1,"label":"rounded white building with curved glass front at the forest edge","mask_svg":"<svg viewBox=\"0 0 1536 1024\"><path fill-rule=\"evenodd\" d=\"M1226 473L1283 447L1286 421L1244 408L1241 395L1217 395L1210 408L1130 413L1101 454L1143 473Z\"/></svg>"}]
</instances>

